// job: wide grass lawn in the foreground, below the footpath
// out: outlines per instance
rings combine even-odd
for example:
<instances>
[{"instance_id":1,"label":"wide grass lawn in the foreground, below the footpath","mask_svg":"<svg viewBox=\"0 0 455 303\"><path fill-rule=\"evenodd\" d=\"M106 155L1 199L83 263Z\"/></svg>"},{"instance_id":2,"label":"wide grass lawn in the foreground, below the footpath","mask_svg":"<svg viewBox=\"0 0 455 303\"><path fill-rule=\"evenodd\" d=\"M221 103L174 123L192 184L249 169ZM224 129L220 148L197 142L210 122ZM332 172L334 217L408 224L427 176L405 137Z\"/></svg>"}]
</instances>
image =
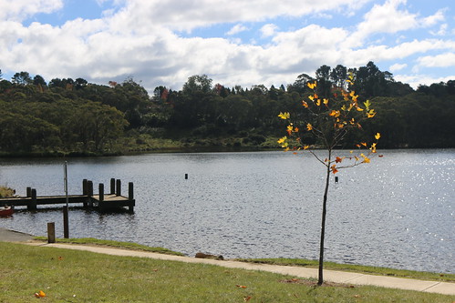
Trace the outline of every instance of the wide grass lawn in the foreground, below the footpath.
<instances>
[{"instance_id":1,"label":"wide grass lawn in the foreground, below the footpath","mask_svg":"<svg viewBox=\"0 0 455 303\"><path fill-rule=\"evenodd\" d=\"M0 242L0 302L446 302L376 287L308 286L260 271ZM287 283L284 282L287 280ZM239 288L237 285L245 286Z\"/></svg>"}]
</instances>

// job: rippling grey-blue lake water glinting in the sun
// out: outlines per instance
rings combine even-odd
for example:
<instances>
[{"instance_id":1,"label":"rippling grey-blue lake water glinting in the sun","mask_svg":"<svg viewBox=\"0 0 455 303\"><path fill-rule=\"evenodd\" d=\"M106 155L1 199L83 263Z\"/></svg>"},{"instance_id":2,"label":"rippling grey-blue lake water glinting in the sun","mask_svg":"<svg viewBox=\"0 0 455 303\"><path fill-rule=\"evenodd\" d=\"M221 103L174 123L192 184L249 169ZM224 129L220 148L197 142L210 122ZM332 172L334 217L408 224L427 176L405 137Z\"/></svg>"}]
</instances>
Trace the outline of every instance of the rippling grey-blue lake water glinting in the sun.
<instances>
[{"instance_id":1,"label":"rippling grey-blue lake water glinting in the sun","mask_svg":"<svg viewBox=\"0 0 455 303\"><path fill-rule=\"evenodd\" d=\"M455 273L455 150L388 150L341 170L328 197L326 260ZM0 158L0 184L64 195L63 161ZM68 158L69 194L82 179L134 182L134 213L70 208L70 237L98 237L225 258L318 258L324 167L291 153ZM188 179L184 175L188 174ZM333 177L332 177L333 178ZM38 206L39 207L39 206ZM16 211L0 227L46 236L62 211Z\"/></svg>"}]
</instances>

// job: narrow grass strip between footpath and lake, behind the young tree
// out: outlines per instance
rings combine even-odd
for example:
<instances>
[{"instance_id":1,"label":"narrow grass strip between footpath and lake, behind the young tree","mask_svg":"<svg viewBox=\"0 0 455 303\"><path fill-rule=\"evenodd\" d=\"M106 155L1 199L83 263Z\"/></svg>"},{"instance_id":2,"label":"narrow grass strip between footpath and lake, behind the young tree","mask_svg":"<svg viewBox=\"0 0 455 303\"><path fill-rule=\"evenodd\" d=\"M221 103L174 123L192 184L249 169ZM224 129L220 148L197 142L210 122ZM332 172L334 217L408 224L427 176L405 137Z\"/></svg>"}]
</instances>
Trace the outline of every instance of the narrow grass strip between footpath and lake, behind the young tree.
<instances>
[{"instance_id":1,"label":"narrow grass strip between footpath and lake, behind the young tree","mask_svg":"<svg viewBox=\"0 0 455 303\"><path fill-rule=\"evenodd\" d=\"M317 268L317 260L305 260L299 258L242 258L237 259L238 261L251 262L251 263L264 263L274 265L289 265L299 266L306 268ZM325 269L351 271L358 273L365 273L377 276L388 276L397 278L416 278L421 280L432 280L432 281L444 281L444 282L455 282L455 275L453 274L439 274L432 272L414 271L414 270L403 270L394 268L379 268L379 267L367 267L362 265L354 264L338 264L335 262L324 262Z\"/></svg>"}]
</instances>

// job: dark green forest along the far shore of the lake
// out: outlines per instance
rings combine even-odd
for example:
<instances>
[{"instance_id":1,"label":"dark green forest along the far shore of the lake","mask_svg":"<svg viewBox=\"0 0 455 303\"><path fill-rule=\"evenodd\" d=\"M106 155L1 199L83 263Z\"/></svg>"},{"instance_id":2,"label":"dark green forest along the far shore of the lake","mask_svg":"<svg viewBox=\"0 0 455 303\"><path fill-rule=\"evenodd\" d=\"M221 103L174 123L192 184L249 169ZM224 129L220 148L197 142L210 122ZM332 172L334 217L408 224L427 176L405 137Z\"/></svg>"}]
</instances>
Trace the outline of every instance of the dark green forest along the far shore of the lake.
<instances>
[{"instance_id":1,"label":"dark green forest along the far shore of the lake","mask_svg":"<svg viewBox=\"0 0 455 303\"><path fill-rule=\"evenodd\" d=\"M302 74L285 87L226 87L195 75L179 91L157 86L151 96L133 78L106 85L83 78L47 82L22 71L6 80L0 70L0 155L279 148L284 122L277 115L301 111L302 100L313 93L308 82L317 81L319 95L334 97L349 73L360 101L370 100L377 112L360 136L380 132L378 148L455 147L455 80L413 89L368 62L321 66L315 78ZM340 148L361 139L348 138Z\"/></svg>"}]
</instances>

